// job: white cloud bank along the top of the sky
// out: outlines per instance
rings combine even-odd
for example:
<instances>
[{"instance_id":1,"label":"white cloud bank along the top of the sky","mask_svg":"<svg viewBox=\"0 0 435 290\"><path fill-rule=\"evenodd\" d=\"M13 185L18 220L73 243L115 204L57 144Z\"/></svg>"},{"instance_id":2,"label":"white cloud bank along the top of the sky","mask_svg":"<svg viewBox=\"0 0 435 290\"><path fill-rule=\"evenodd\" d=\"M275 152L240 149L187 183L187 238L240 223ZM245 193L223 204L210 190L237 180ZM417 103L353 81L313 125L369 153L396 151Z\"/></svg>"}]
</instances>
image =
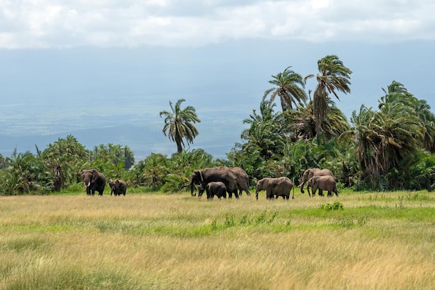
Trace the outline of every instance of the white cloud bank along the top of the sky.
<instances>
[{"instance_id":1,"label":"white cloud bank along the top of the sky","mask_svg":"<svg viewBox=\"0 0 435 290\"><path fill-rule=\"evenodd\" d=\"M434 40L433 11L432 0L1 1L0 48Z\"/></svg>"}]
</instances>

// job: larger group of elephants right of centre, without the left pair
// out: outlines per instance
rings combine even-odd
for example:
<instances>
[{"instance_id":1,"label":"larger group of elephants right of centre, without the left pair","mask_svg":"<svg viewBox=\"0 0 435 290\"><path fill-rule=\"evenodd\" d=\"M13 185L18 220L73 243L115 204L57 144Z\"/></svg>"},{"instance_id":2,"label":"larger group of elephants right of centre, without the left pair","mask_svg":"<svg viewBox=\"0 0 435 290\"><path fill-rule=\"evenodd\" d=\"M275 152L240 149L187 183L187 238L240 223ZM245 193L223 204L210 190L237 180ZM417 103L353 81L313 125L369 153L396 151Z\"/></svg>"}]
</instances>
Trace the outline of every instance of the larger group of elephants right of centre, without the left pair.
<instances>
[{"instance_id":1,"label":"larger group of elephants right of centre, without the left pair","mask_svg":"<svg viewBox=\"0 0 435 290\"><path fill-rule=\"evenodd\" d=\"M323 191L327 191L327 196L332 196L335 193L338 196L336 179L332 172L328 169L310 168L305 170L302 175L301 193L304 193L304 186L307 183L307 191L310 194L309 187L311 187L312 195L318 190L319 195L323 196ZM217 198L232 198L233 194L236 198L242 194L243 191L247 195L249 193L249 177L245 170L240 167L229 168L227 166L219 166L213 168L204 168L202 170L194 170L190 176L190 195L196 196L193 193L195 186L198 187L198 197L201 197L206 191L207 199L213 199L216 195ZM288 177L265 177L258 180L256 184L255 196L258 200L258 193L266 191L266 199L282 198L288 200L290 198L290 191L293 188L293 182ZM295 198L295 191L293 188L293 196Z\"/></svg>"}]
</instances>

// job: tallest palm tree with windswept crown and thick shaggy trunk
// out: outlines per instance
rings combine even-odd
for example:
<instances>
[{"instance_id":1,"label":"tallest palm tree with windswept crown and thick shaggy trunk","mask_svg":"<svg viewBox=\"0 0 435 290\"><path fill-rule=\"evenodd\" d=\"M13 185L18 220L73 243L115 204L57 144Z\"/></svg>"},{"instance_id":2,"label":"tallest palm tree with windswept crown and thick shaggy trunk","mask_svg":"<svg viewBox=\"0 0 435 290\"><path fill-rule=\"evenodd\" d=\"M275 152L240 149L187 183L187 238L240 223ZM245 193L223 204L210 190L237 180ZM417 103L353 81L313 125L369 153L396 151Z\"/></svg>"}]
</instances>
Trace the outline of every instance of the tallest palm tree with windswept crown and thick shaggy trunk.
<instances>
[{"instance_id":1,"label":"tallest palm tree with windswept crown and thick shaggy trunk","mask_svg":"<svg viewBox=\"0 0 435 290\"><path fill-rule=\"evenodd\" d=\"M329 111L328 97L333 94L338 100L337 92L350 92L350 74L352 70L343 65L338 56L325 56L318 61L316 79L318 81L313 93L313 115L315 118L316 131L322 130L323 119ZM311 75L312 76L312 75ZM307 78L311 77L307 76Z\"/></svg>"}]
</instances>

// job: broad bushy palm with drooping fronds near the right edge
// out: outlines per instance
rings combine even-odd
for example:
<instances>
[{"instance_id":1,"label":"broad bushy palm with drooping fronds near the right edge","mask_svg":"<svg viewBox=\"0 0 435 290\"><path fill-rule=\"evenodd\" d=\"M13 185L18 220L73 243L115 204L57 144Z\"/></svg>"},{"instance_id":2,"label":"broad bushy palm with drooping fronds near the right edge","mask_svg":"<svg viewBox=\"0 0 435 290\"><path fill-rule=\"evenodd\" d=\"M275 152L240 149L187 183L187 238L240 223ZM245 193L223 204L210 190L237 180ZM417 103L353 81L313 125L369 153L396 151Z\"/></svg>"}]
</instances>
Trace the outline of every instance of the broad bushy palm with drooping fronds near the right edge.
<instances>
[{"instance_id":1,"label":"broad bushy palm with drooping fronds near the right edge","mask_svg":"<svg viewBox=\"0 0 435 290\"><path fill-rule=\"evenodd\" d=\"M393 168L405 170L413 163L422 138L416 111L402 102L385 103L380 111L361 106L359 114L352 113L351 122L353 127L343 138L354 136L363 178L374 189L399 187L394 180L388 180L388 172Z\"/></svg>"}]
</instances>

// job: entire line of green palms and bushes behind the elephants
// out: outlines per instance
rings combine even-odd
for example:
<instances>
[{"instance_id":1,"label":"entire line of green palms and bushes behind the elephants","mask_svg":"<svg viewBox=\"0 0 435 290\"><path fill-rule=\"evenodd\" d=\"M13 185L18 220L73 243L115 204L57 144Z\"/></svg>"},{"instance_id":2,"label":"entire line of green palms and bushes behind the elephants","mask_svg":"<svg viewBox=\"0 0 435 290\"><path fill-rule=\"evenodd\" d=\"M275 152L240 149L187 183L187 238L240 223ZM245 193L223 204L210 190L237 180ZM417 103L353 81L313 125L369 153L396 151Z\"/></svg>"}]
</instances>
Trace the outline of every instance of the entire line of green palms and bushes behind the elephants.
<instances>
[{"instance_id":1,"label":"entire line of green palms and bushes behind the elephants","mask_svg":"<svg viewBox=\"0 0 435 290\"><path fill-rule=\"evenodd\" d=\"M241 141L227 159L213 159L202 149L186 150L199 131L195 108L161 111L163 134L177 144L172 156L152 153L135 162L127 145L99 145L86 150L74 136L59 138L36 154L0 155L0 194L48 194L79 188L83 168L125 180L144 191L181 191L193 170L213 166L241 167L251 185L263 177L287 176L298 184L306 168L329 168L340 186L355 190L432 191L435 184L435 115L402 83L392 81L377 108L361 105L350 120L331 96L350 93L350 74L337 56L318 61L318 74L303 77L287 67L272 75L258 109L243 120ZM306 92L306 83L316 86ZM279 99L280 108L275 101ZM186 144L184 143L186 140ZM75 186L75 187L74 187Z\"/></svg>"}]
</instances>

